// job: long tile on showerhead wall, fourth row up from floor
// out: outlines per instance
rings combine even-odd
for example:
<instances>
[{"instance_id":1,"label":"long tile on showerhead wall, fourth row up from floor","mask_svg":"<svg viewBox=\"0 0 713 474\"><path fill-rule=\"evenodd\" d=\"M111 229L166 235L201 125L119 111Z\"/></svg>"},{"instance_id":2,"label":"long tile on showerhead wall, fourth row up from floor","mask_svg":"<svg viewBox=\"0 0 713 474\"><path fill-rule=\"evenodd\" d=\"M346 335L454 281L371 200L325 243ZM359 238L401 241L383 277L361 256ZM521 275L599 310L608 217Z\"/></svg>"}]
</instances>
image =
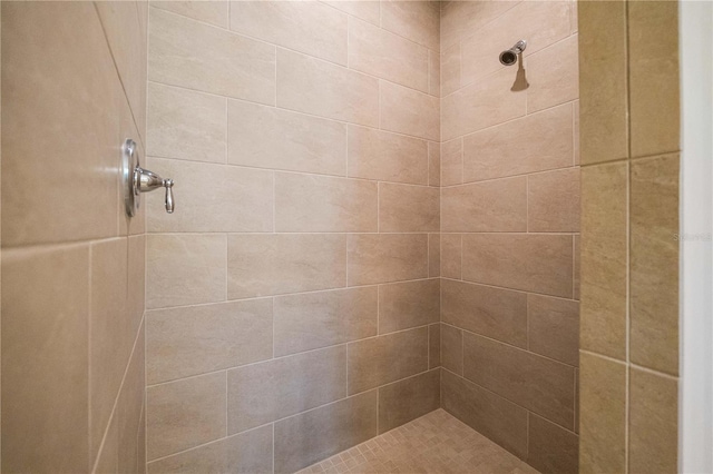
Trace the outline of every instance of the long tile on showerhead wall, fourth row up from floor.
<instances>
[{"instance_id":1,"label":"long tile on showerhead wall, fourth row up from floor","mask_svg":"<svg viewBox=\"0 0 713 474\"><path fill-rule=\"evenodd\" d=\"M572 253L566 235L465 235L463 279L572 297Z\"/></svg>"}]
</instances>

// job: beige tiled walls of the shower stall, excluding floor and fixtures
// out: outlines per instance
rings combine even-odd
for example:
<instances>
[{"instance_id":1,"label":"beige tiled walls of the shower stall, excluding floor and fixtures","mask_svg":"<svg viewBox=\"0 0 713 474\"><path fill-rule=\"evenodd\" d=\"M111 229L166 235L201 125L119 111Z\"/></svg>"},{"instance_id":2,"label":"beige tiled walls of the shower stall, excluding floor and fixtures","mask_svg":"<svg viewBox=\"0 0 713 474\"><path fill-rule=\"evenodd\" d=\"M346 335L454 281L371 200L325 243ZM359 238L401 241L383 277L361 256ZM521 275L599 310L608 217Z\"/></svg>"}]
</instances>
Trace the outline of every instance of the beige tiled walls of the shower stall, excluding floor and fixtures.
<instances>
[{"instance_id":1,"label":"beige tiled walls of the shower stall, excluding floor and fixtures","mask_svg":"<svg viewBox=\"0 0 713 474\"><path fill-rule=\"evenodd\" d=\"M633 3L2 2L0 468L293 473L455 423L543 473L670 472L677 359L635 350L677 326L608 254L677 225L677 96L636 82L677 85L675 2ZM636 69L642 34L668 55ZM126 216L126 138L173 214ZM677 251L636 241L671 305Z\"/></svg>"}]
</instances>

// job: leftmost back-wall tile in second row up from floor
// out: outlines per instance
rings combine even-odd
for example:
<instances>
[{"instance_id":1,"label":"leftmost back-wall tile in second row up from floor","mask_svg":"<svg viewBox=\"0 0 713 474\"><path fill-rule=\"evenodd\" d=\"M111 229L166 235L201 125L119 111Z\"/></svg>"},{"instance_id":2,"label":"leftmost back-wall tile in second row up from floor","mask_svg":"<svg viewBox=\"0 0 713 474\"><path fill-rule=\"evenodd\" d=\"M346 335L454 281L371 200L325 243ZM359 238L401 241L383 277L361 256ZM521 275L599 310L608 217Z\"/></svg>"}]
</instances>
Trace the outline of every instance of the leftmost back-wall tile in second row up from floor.
<instances>
[{"instance_id":1,"label":"leftmost back-wall tile in second row up from floor","mask_svg":"<svg viewBox=\"0 0 713 474\"><path fill-rule=\"evenodd\" d=\"M225 394L225 372L148 387L148 461L224 437Z\"/></svg>"}]
</instances>

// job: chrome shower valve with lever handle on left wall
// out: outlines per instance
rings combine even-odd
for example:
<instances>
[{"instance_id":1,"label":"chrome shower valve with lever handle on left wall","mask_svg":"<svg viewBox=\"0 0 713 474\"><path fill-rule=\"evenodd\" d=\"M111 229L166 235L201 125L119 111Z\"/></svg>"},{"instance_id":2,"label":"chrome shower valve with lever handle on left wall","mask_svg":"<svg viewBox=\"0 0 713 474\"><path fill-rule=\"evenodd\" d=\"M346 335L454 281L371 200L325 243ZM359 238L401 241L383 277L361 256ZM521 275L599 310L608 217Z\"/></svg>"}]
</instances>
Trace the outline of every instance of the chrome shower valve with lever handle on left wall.
<instances>
[{"instance_id":1,"label":"chrome shower valve with lever handle on left wall","mask_svg":"<svg viewBox=\"0 0 713 474\"><path fill-rule=\"evenodd\" d=\"M154 171L144 169L138 159L136 142L128 138L121 147L121 178L124 180L124 205L126 214L134 216L140 204L141 192L166 188L166 213L174 211L174 180L164 179Z\"/></svg>"}]
</instances>

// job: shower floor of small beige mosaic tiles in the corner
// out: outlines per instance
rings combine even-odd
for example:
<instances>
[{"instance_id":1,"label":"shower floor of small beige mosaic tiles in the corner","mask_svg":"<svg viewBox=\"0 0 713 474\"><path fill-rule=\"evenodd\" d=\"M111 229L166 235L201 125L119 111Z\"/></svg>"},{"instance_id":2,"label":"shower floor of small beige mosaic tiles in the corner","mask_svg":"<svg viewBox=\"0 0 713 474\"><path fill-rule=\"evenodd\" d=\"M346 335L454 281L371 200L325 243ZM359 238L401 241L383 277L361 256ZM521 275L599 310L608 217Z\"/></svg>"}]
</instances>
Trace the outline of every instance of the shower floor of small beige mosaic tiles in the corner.
<instances>
[{"instance_id":1,"label":"shower floor of small beige mosaic tiles in the corner","mask_svg":"<svg viewBox=\"0 0 713 474\"><path fill-rule=\"evenodd\" d=\"M313 464L306 473L538 472L443 409Z\"/></svg>"}]
</instances>

